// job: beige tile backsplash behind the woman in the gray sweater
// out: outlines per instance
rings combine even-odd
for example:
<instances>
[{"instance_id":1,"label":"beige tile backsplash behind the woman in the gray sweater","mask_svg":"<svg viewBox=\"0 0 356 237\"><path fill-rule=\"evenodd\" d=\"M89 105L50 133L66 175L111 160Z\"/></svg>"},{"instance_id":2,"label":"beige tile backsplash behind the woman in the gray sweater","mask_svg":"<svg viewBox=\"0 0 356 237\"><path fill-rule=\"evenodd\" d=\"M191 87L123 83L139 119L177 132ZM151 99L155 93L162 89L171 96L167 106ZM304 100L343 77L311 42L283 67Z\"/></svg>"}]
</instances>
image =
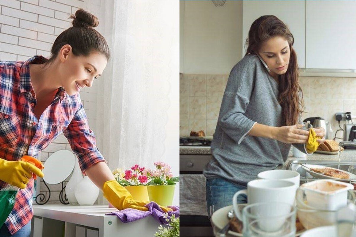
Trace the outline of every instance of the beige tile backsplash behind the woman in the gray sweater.
<instances>
[{"instance_id":1,"label":"beige tile backsplash behind the woman in the gray sweater","mask_svg":"<svg viewBox=\"0 0 356 237\"><path fill-rule=\"evenodd\" d=\"M229 75L181 74L180 136L189 136L191 130L204 130L212 136L218 121L221 101ZM320 116L330 122L333 139L339 125L336 112L356 115L355 77L300 77L303 89L303 119ZM356 123L356 121L354 121ZM341 127L345 122L341 122ZM342 138L339 131L337 137Z\"/></svg>"}]
</instances>

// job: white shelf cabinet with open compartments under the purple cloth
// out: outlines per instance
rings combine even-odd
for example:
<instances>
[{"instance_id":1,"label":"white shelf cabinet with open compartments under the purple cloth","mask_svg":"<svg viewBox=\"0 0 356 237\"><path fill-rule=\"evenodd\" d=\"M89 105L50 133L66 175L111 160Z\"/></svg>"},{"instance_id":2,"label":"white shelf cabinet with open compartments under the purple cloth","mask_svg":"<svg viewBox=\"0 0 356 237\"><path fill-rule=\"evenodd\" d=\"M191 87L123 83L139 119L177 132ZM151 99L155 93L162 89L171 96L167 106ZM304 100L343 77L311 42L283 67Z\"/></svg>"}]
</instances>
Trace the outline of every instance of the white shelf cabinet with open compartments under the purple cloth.
<instances>
[{"instance_id":1,"label":"white shelf cabinet with open compartments under the purple cloth","mask_svg":"<svg viewBox=\"0 0 356 237\"><path fill-rule=\"evenodd\" d=\"M159 223L152 216L123 223L116 216L106 216L115 211L104 205L33 205L31 237L112 237L155 236Z\"/></svg>"}]
</instances>

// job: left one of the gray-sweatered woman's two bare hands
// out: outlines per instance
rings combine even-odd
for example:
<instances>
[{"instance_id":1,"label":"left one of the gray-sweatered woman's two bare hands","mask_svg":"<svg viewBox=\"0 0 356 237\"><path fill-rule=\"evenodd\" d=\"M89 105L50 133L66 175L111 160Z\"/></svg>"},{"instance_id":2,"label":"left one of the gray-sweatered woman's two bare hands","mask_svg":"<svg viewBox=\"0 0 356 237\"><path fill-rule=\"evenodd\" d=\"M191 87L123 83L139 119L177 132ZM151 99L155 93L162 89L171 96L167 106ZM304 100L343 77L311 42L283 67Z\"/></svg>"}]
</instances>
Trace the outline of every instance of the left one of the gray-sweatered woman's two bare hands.
<instances>
[{"instance_id":1,"label":"left one of the gray-sweatered woman's two bare hands","mask_svg":"<svg viewBox=\"0 0 356 237\"><path fill-rule=\"evenodd\" d=\"M318 130L318 132L321 132ZM274 130L274 139L292 144L292 143L307 143L309 138L309 131L298 129L297 125L282 126Z\"/></svg>"}]
</instances>

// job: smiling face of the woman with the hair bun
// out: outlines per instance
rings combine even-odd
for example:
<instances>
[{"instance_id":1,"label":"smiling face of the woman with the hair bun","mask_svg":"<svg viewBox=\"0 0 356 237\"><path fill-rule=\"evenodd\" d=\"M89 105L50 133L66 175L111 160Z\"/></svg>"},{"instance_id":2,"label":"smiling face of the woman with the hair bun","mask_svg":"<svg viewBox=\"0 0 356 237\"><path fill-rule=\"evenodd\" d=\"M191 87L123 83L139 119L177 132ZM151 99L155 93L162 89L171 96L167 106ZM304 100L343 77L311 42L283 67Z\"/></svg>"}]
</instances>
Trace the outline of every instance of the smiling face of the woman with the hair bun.
<instances>
[{"instance_id":1,"label":"smiling face of the woman with the hair bun","mask_svg":"<svg viewBox=\"0 0 356 237\"><path fill-rule=\"evenodd\" d=\"M75 56L70 45L63 53L61 50L59 59L62 62L61 84L70 96L85 86L91 87L93 80L103 73L108 62L105 55L98 52L92 52L88 56Z\"/></svg>"}]
</instances>

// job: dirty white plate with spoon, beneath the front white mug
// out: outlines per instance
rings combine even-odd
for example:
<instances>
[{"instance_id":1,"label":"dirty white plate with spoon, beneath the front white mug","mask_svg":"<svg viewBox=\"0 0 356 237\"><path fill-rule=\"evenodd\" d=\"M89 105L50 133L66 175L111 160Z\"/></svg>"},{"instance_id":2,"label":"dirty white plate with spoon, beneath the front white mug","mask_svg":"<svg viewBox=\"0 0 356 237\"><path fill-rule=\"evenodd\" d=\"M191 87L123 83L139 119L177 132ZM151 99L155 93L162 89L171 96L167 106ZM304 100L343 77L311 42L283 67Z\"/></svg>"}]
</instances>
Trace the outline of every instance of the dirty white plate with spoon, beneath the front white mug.
<instances>
[{"instance_id":1,"label":"dirty white plate with spoon, beneath the front white mug","mask_svg":"<svg viewBox=\"0 0 356 237\"><path fill-rule=\"evenodd\" d=\"M243 208L244 206L246 206L247 204L239 204L238 208ZM227 218L227 212L229 212L232 209L232 205L231 206L225 206L224 208L220 208L219 210L215 211L214 214L211 216L211 224L213 225L213 227L215 226L218 231L221 230L222 228L224 228L224 226L229 222L229 219ZM295 236L300 236L303 231L299 231ZM237 237L242 237L242 233L237 233L235 231L231 231L229 230L227 232L226 237L231 237L231 236L237 236Z\"/></svg>"}]
</instances>

